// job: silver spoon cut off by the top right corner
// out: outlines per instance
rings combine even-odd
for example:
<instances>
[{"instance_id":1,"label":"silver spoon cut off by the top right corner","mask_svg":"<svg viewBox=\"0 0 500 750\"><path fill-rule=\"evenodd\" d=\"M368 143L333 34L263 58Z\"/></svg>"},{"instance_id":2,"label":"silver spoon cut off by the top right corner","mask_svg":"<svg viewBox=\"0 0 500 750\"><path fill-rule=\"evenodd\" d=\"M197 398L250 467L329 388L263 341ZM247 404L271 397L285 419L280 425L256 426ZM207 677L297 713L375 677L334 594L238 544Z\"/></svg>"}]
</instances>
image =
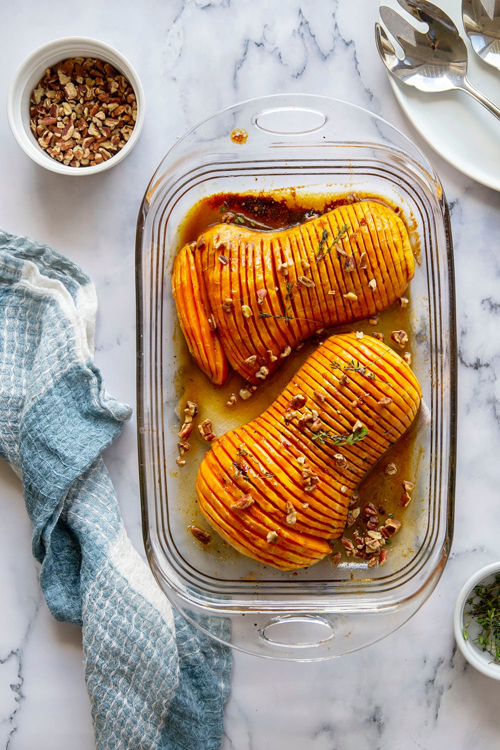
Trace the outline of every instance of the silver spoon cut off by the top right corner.
<instances>
[{"instance_id":1,"label":"silver spoon cut off by the top right corner","mask_svg":"<svg viewBox=\"0 0 500 750\"><path fill-rule=\"evenodd\" d=\"M472 49L500 71L500 0L462 0L462 20Z\"/></svg>"}]
</instances>

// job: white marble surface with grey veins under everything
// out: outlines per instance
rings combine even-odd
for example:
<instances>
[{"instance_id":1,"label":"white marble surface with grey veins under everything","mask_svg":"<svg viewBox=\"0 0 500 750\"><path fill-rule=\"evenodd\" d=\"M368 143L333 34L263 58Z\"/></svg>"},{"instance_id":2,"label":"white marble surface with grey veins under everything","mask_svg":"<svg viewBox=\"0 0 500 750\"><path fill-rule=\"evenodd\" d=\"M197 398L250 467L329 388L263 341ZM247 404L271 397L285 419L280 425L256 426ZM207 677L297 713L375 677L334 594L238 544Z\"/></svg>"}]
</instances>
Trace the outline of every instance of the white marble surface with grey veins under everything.
<instances>
[{"instance_id":1,"label":"white marble surface with grey veins under everything","mask_svg":"<svg viewBox=\"0 0 500 750\"><path fill-rule=\"evenodd\" d=\"M457 0L458 1L458 0ZM0 224L69 255L100 299L97 364L135 403L134 234L148 178L175 137L246 98L316 92L383 115L442 176L454 230L460 337L457 514L436 592L381 643L334 661L235 655L223 750L481 750L499 746L500 682L456 652L451 613L463 580L500 558L500 196L455 171L398 110L376 57L376 0L51 0L2 6L0 99L16 66L51 38L97 36L136 66L147 118L116 169L73 180L35 166L0 121ZM142 549L135 424L106 452L124 522ZM31 557L19 483L0 466L0 746L93 747L76 627L49 615Z\"/></svg>"}]
</instances>

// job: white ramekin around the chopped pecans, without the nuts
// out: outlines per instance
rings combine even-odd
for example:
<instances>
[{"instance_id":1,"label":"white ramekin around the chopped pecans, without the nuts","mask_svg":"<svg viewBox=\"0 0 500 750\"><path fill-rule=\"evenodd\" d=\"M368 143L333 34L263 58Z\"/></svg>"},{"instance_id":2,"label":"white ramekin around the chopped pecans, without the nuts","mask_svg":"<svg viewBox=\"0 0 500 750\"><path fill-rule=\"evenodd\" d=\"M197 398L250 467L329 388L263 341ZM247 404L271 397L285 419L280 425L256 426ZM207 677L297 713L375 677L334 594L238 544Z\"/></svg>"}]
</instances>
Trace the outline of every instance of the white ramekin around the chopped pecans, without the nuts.
<instances>
[{"instance_id":1,"label":"white ramekin around the chopped pecans, without the nuts","mask_svg":"<svg viewBox=\"0 0 500 750\"><path fill-rule=\"evenodd\" d=\"M93 57L103 62L109 62L124 75L130 82L137 101L137 119L133 127L132 134L126 145L121 148L114 156L103 163L95 166L66 166L65 164L52 159L49 154L40 148L37 140L29 128L29 100L31 92L37 86L43 72L46 68L55 65L56 62L66 60L71 57ZM136 71L130 65L130 62L112 46L96 39L86 37L67 37L64 39L55 39L47 42L31 52L25 58L25 61L19 65L13 81L7 94L7 119L13 136L21 146L22 150L28 154L31 159L50 169L52 172L58 172L61 175L94 175L96 172L103 172L116 166L127 154L130 154L134 145L136 145L139 134L144 124L144 92Z\"/></svg>"}]
</instances>

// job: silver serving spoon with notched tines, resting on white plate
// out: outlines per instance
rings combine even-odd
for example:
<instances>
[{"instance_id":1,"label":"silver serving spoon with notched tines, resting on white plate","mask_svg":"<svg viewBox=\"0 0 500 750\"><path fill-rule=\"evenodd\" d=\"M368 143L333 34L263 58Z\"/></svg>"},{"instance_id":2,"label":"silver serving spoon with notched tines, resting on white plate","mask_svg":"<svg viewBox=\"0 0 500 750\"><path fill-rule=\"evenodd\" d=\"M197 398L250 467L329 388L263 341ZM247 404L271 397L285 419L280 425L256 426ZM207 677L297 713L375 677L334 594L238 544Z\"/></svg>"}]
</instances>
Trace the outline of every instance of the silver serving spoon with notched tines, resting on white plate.
<instances>
[{"instance_id":1,"label":"silver serving spoon with notched tines, resting on white plate","mask_svg":"<svg viewBox=\"0 0 500 750\"><path fill-rule=\"evenodd\" d=\"M467 47L451 18L427 0L397 0L404 10L427 24L427 32L417 31L391 7L382 5L380 16L403 48L404 58L397 58L385 29L375 25L379 55L388 71L408 86L422 92L446 92L460 89L481 102L500 119L500 109L475 89L467 78Z\"/></svg>"}]
</instances>

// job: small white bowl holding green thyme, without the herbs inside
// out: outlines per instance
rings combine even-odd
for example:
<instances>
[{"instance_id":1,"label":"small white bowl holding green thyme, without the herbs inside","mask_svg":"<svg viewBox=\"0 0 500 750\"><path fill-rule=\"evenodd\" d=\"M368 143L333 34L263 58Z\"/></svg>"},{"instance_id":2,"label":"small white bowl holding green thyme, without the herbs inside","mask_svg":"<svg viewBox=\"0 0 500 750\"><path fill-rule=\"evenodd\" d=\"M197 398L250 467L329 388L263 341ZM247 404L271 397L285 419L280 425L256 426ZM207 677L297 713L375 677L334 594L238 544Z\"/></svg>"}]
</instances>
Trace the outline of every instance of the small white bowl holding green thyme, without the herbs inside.
<instances>
[{"instance_id":1,"label":"small white bowl holding green thyme, without the herbs inside","mask_svg":"<svg viewBox=\"0 0 500 750\"><path fill-rule=\"evenodd\" d=\"M457 646L462 652L462 655L464 656L464 658L466 658L467 661L469 661L469 664L472 664L473 667L475 667L483 674L486 674L488 677L493 677L493 679L500 679L500 664L492 664L491 654L487 651L483 651L481 646L478 646L473 642L472 639L476 637L474 620L467 617L467 615L464 613L464 610L466 609L467 599L469 599L474 593L474 586L477 586L478 583L483 583L484 580L493 576L499 571L500 562L492 562L491 565L486 565L484 568L481 568L481 570L475 572L475 574L472 575L469 580L467 580L466 583L463 584L462 589L460 589L460 594L457 598L457 604L455 604L453 618L455 640L457 641ZM471 624L468 628L469 640L466 640L463 637L463 627L469 619L471 620ZM479 634L481 628L479 625L477 626L477 628L477 633Z\"/></svg>"}]
</instances>

